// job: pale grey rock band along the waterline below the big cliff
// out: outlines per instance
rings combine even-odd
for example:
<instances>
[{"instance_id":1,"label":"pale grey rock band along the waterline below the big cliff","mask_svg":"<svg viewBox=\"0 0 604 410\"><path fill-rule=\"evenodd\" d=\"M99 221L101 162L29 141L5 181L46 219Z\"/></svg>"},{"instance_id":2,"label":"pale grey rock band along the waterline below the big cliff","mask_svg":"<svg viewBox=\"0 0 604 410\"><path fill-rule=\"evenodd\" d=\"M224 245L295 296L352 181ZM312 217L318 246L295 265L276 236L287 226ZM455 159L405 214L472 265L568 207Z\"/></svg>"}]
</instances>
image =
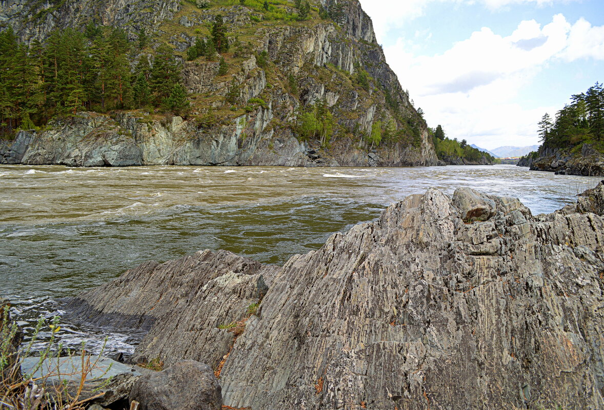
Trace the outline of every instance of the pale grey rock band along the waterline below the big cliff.
<instances>
[{"instance_id":1,"label":"pale grey rock band along the waterline below the big cliff","mask_svg":"<svg viewBox=\"0 0 604 410\"><path fill-rule=\"evenodd\" d=\"M44 130L20 131L0 145L0 163L77 167L140 165L223 166L433 166L437 159L427 131L416 144L398 141L371 148L339 137L329 147L298 140L272 124L259 109L233 124L199 128L180 116L153 118L142 111L111 116L80 112L57 118Z\"/></svg>"}]
</instances>

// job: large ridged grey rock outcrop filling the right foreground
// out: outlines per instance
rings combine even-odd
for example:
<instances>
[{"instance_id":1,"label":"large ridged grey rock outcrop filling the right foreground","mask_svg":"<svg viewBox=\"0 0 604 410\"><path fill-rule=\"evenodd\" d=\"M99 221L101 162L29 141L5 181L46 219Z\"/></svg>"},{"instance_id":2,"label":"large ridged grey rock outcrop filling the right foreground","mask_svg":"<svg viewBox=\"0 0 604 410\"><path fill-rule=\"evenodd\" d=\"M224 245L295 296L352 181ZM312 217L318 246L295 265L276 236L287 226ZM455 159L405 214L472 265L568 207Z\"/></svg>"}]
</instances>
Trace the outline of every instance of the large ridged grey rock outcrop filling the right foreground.
<instances>
[{"instance_id":1,"label":"large ridged grey rock outcrop filling the right foreground","mask_svg":"<svg viewBox=\"0 0 604 410\"><path fill-rule=\"evenodd\" d=\"M71 303L93 321L153 315L135 356L214 366L234 408L595 410L604 218L591 211L604 184L582 201L533 216L513 198L429 189L280 269L242 279L230 266L243 258L204 251L188 257L205 255L196 268L141 265ZM239 262L211 266L223 258ZM268 291L243 333L217 329L247 316L260 275Z\"/></svg>"}]
</instances>

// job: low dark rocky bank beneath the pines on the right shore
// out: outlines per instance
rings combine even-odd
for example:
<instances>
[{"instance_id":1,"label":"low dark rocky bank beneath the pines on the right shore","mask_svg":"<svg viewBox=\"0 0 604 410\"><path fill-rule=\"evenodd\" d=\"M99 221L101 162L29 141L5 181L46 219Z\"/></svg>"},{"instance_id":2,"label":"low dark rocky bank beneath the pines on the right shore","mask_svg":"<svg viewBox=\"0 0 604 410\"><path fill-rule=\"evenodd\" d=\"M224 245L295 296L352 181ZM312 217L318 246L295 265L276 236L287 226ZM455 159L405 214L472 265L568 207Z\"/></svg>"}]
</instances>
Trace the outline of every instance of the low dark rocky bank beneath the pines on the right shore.
<instances>
[{"instance_id":1,"label":"low dark rocky bank beneath the pines on the right shore","mask_svg":"<svg viewBox=\"0 0 604 410\"><path fill-rule=\"evenodd\" d=\"M604 156L590 144L583 144L580 153L571 154L558 148L539 147L518 161L518 166L528 166L531 171L549 171L561 175L604 177Z\"/></svg>"}]
</instances>

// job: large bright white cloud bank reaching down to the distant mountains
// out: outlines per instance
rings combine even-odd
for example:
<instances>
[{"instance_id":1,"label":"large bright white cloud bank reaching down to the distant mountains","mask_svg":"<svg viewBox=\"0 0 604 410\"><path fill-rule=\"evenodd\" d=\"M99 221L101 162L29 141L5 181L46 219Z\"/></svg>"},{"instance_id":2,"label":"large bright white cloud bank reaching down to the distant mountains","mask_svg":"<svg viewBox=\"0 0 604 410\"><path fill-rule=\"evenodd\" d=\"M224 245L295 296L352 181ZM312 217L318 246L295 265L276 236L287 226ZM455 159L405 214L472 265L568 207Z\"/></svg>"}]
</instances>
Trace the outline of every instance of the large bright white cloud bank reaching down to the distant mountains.
<instances>
[{"instance_id":1,"label":"large bright white cloud bank reaching down to the distant mountains","mask_svg":"<svg viewBox=\"0 0 604 410\"><path fill-rule=\"evenodd\" d=\"M501 1L503 3L503 1ZM536 122L559 107L527 110L518 95L554 61L604 60L604 26L562 14L541 27L522 21L509 36L483 27L443 54L416 55L405 39L385 49L388 63L408 87L431 126L484 148L537 143Z\"/></svg>"}]
</instances>

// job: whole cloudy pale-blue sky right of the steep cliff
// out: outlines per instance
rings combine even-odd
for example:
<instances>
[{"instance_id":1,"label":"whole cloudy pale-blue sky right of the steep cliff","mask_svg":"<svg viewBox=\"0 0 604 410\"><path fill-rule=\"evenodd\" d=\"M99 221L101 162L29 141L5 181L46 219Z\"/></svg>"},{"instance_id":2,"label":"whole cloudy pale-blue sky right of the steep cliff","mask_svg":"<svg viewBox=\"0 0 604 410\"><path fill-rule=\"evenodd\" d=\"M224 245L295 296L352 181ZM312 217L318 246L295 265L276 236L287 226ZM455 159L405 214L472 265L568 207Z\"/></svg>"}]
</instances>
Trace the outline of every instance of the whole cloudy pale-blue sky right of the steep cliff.
<instances>
[{"instance_id":1,"label":"whole cloudy pale-blue sky right of the steep cliff","mask_svg":"<svg viewBox=\"0 0 604 410\"><path fill-rule=\"evenodd\" d=\"M604 0L360 0L429 127L492 150L604 82Z\"/></svg>"}]
</instances>

